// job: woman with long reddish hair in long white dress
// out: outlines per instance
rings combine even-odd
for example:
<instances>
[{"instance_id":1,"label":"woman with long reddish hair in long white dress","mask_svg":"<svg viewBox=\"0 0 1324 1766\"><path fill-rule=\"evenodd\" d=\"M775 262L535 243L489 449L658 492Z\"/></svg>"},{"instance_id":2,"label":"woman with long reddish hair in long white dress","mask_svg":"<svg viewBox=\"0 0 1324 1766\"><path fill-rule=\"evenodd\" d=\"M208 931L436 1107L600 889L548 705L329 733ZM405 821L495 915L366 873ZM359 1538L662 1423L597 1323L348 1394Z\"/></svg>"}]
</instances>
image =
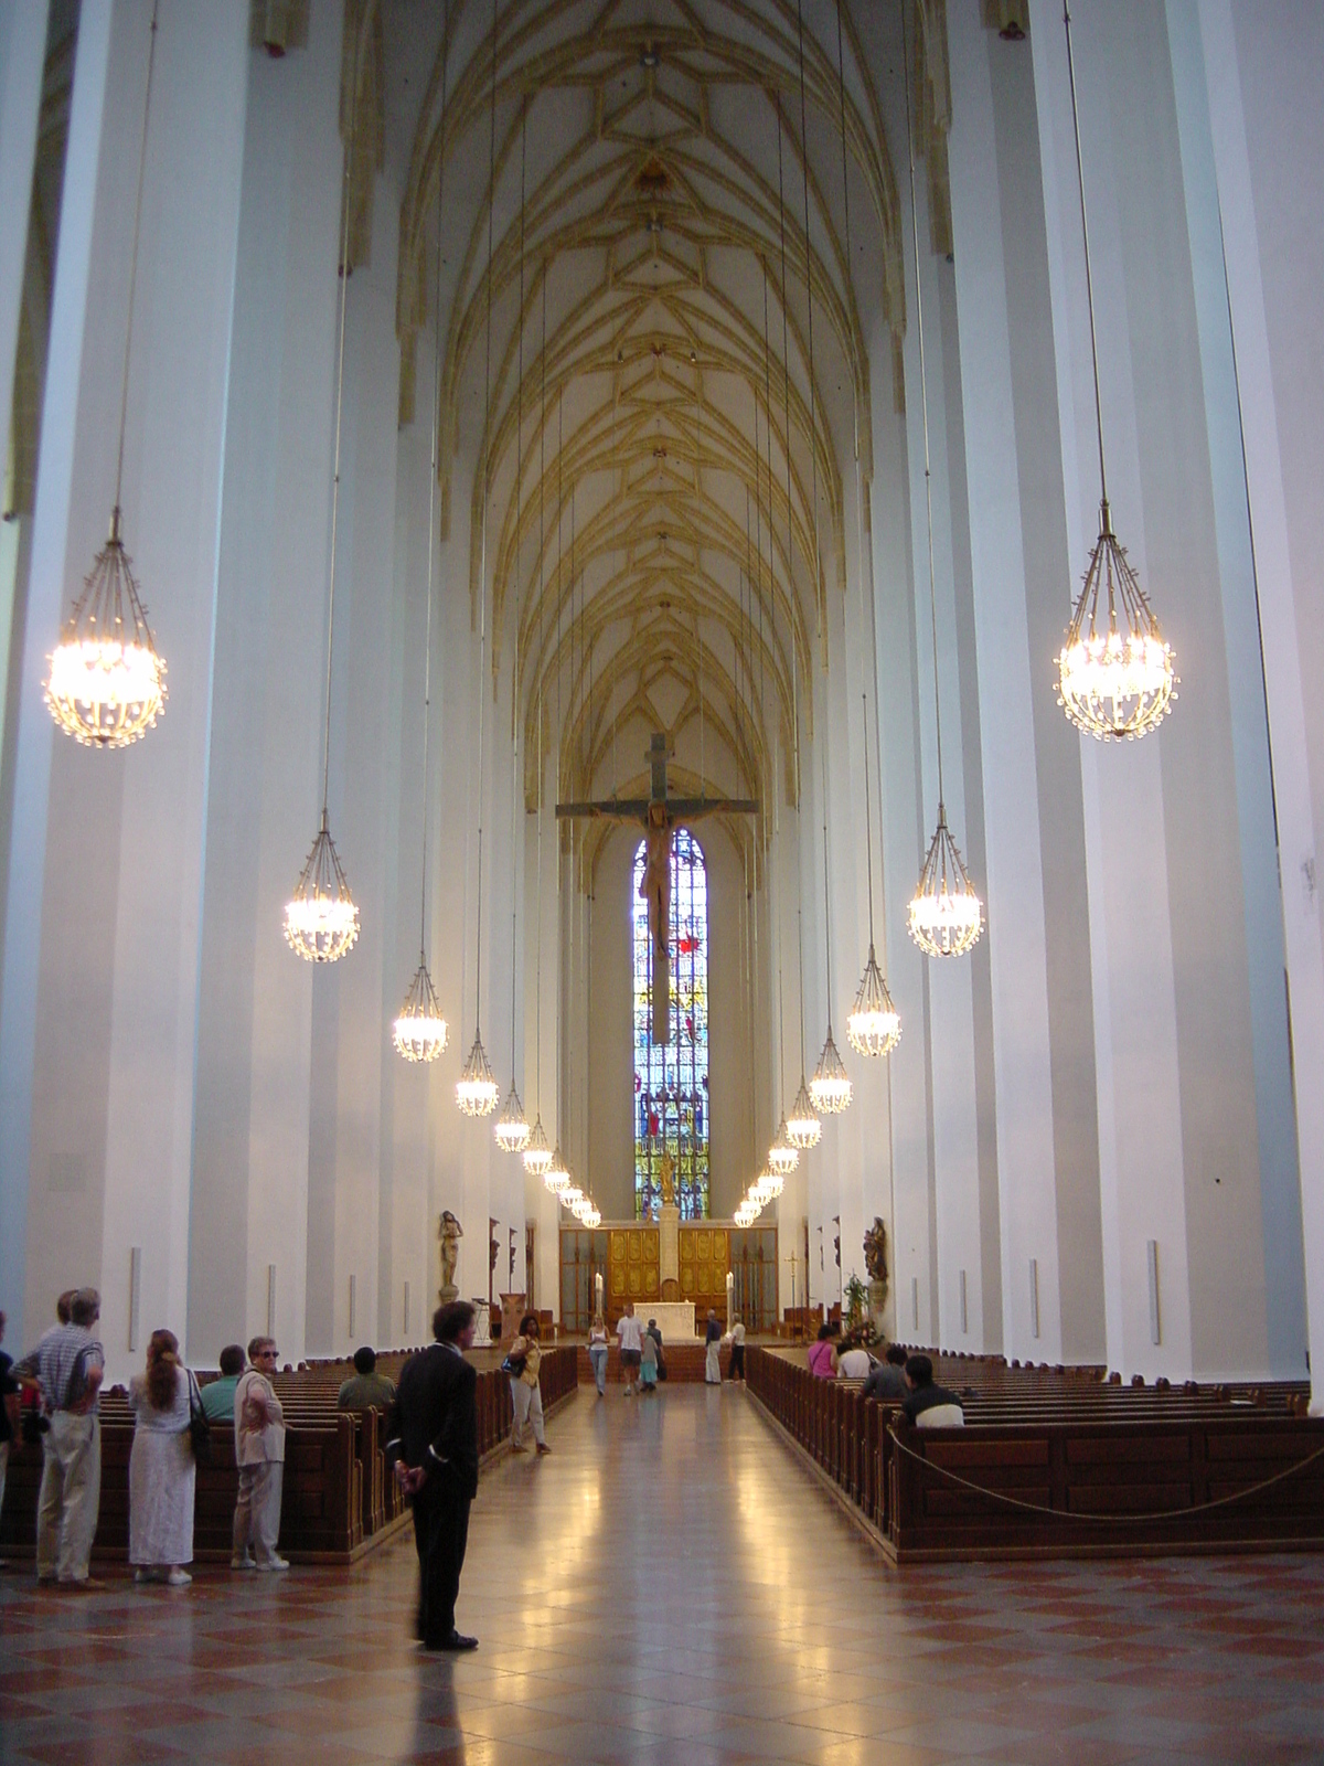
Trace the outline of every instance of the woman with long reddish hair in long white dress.
<instances>
[{"instance_id":1,"label":"woman with long reddish hair in long white dress","mask_svg":"<svg viewBox=\"0 0 1324 1766\"><path fill-rule=\"evenodd\" d=\"M192 1577L194 1459L189 1436L192 1374L173 1332L154 1330L147 1372L129 1386L134 1445L129 1455L129 1563L136 1582L185 1588Z\"/></svg>"}]
</instances>

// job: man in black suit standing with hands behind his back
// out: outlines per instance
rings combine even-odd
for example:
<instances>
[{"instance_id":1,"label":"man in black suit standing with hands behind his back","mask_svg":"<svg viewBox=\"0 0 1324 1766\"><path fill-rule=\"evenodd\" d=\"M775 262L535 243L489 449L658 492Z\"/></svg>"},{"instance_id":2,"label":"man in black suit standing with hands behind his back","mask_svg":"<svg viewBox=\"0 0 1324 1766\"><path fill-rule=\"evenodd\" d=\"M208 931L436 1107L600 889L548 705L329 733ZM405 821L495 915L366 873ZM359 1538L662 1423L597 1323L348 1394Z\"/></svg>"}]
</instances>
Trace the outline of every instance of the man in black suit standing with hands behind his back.
<instances>
[{"instance_id":1,"label":"man in black suit standing with hands behind his back","mask_svg":"<svg viewBox=\"0 0 1324 1766\"><path fill-rule=\"evenodd\" d=\"M477 1649L477 1637L455 1630L470 1503L478 1494L478 1376L464 1360L473 1344L468 1300L438 1307L433 1335L436 1342L411 1356L401 1372L387 1452L413 1503L418 1639L425 1649Z\"/></svg>"}]
</instances>

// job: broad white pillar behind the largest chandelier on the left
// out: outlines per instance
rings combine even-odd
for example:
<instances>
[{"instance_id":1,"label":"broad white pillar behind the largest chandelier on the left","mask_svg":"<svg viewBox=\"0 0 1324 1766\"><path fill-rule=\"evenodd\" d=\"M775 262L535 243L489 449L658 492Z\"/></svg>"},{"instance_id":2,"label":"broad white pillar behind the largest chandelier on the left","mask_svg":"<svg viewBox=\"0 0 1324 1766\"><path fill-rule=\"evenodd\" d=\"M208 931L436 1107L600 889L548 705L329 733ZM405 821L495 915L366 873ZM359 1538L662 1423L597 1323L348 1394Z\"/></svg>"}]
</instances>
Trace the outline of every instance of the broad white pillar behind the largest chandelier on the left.
<instances>
[{"instance_id":1,"label":"broad white pillar behind the largest chandelier on the left","mask_svg":"<svg viewBox=\"0 0 1324 1766\"><path fill-rule=\"evenodd\" d=\"M187 1317L212 639L247 85L242 16L162 7L122 502L171 696L141 747L92 754L55 735L41 680L62 613L104 544L115 491L150 18L147 4L90 9L79 26L0 1028L14 1086L5 1171L18 1189L28 1185L25 1335L46 1321L55 1291L95 1280L113 1377L138 1362L155 1324L184 1337Z\"/></svg>"}]
</instances>

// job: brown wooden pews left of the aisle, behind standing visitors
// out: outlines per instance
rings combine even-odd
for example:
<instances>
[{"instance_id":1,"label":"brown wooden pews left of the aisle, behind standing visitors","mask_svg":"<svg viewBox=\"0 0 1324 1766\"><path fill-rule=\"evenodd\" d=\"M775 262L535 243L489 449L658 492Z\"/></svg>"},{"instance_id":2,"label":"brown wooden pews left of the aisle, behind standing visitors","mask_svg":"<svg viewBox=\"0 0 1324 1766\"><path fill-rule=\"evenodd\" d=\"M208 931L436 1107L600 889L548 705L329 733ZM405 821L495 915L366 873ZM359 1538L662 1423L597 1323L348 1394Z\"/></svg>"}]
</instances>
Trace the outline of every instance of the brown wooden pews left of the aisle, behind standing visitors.
<instances>
[{"instance_id":1,"label":"brown wooden pews left of the aisle, behind standing visitors","mask_svg":"<svg viewBox=\"0 0 1324 1766\"><path fill-rule=\"evenodd\" d=\"M286 1464L281 1496L281 1552L293 1563L355 1563L408 1526L408 1505L387 1473L385 1416L335 1408L350 1363L320 1363L274 1379L286 1415ZM575 1392L574 1349L547 1349L540 1369L544 1411L551 1413ZM205 1381L203 1381L205 1383ZM478 1455L491 1464L507 1450L512 1404L510 1381L500 1369L484 1369L477 1383ZM101 1404L101 1508L92 1547L94 1563L125 1563L129 1556L129 1453L132 1413L120 1390ZM11 1450L0 1556L35 1556L37 1494L42 1455L39 1446ZM194 1498L194 1563L228 1563L238 1473L235 1432L212 1425L212 1462L198 1468Z\"/></svg>"}]
</instances>

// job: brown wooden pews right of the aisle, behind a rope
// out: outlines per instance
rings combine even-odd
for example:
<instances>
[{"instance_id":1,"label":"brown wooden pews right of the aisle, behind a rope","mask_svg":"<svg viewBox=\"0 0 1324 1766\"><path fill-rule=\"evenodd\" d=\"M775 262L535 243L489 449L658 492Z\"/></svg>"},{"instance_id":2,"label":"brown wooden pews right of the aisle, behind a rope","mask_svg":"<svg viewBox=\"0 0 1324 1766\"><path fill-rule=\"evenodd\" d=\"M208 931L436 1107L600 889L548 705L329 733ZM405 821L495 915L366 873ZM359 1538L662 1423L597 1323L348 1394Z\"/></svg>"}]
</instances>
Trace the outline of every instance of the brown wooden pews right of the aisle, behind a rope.
<instances>
[{"instance_id":1,"label":"brown wooden pews right of the aisle, behind a rope","mask_svg":"<svg viewBox=\"0 0 1324 1766\"><path fill-rule=\"evenodd\" d=\"M856 1381L747 1353L749 1390L893 1563L1324 1547L1324 1420L1128 1388L985 1393L913 1429Z\"/></svg>"}]
</instances>

